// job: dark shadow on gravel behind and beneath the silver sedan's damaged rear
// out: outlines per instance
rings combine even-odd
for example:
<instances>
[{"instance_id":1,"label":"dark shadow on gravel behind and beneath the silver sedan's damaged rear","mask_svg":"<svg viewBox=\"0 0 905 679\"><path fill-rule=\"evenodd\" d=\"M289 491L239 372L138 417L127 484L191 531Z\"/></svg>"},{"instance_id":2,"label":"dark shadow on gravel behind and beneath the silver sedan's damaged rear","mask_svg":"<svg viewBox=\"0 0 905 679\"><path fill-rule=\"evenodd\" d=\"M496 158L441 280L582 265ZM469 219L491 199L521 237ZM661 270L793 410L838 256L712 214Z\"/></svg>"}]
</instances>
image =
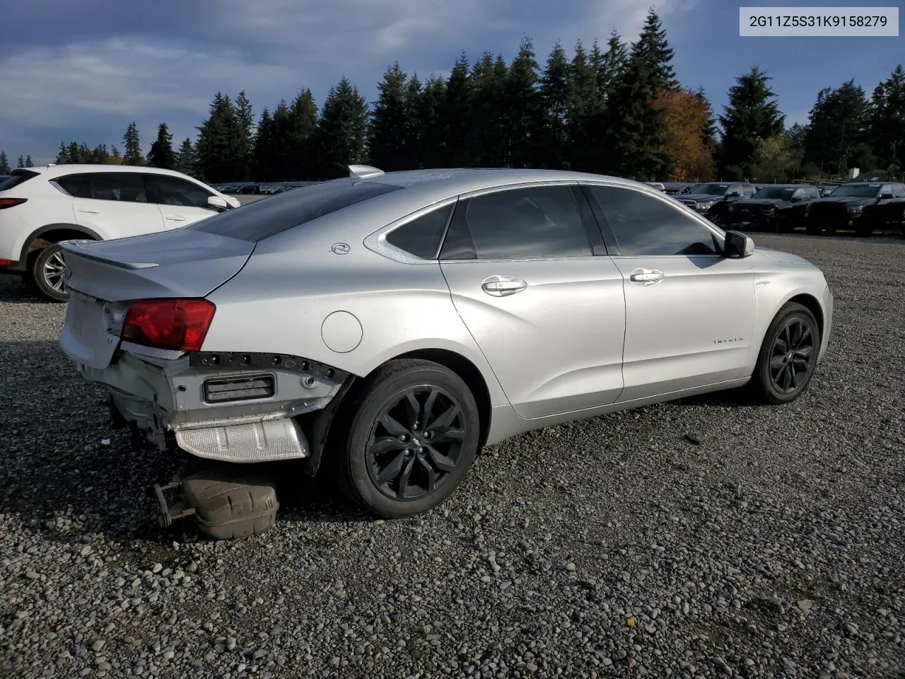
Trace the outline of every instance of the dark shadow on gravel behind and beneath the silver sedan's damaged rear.
<instances>
[{"instance_id":1,"label":"dark shadow on gravel behind and beneath the silver sedan's damaged rear","mask_svg":"<svg viewBox=\"0 0 905 679\"><path fill-rule=\"evenodd\" d=\"M197 535L191 520L162 529L150 489L205 462L132 445L127 430L112 427L104 390L85 382L56 342L0 342L0 380L0 514L69 542L93 533L166 543ZM299 467L272 467L281 521L367 521Z\"/></svg>"}]
</instances>

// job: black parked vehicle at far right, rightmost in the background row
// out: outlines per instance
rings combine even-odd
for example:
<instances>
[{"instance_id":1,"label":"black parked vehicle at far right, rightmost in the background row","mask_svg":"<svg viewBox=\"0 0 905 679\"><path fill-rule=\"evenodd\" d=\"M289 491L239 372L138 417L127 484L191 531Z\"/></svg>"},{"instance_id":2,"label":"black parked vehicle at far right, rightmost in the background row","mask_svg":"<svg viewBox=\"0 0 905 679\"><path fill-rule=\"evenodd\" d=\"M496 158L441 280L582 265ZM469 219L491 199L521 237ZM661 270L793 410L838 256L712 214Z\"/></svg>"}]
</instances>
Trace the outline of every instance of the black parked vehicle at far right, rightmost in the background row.
<instances>
[{"instance_id":1,"label":"black parked vehicle at far right, rightmost in the background row","mask_svg":"<svg viewBox=\"0 0 905 679\"><path fill-rule=\"evenodd\" d=\"M805 230L812 235L834 234L840 230L870 235L875 226L862 220L864 208L895 197L905 197L903 185L850 182L837 186L830 196L814 200L805 207Z\"/></svg>"}]
</instances>

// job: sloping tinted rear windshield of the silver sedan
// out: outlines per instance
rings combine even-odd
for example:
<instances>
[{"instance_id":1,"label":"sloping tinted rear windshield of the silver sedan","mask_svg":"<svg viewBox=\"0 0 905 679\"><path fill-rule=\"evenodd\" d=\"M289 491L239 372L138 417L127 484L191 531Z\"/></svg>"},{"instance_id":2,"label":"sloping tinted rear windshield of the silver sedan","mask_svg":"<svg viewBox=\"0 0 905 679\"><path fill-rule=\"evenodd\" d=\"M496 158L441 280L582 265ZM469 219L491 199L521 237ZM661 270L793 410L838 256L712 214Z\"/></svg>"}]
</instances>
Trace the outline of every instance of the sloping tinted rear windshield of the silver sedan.
<instances>
[{"instance_id":1,"label":"sloping tinted rear windshield of the silver sedan","mask_svg":"<svg viewBox=\"0 0 905 679\"><path fill-rule=\"evenodd\" d=\"M257 243L294 226L400 188L402 186L335 179L268 196L186 228Z\"/></svg>"}]
</instances>

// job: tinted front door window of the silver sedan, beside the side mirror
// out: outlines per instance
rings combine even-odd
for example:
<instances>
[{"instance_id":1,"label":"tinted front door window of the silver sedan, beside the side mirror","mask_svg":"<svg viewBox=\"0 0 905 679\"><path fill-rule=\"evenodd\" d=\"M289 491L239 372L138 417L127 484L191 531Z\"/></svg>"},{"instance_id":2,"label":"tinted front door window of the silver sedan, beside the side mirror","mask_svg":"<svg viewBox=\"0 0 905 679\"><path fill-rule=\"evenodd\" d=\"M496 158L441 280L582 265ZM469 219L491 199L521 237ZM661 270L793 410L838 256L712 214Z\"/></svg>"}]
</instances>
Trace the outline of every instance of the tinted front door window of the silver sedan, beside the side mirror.
<instances>
[{"instance_id":1,"label":"tinted front door window of the silver sedan, beside the side mirror","mask_svg":"<svg viewBox=\"0 0 905 679\"><path fill-rule=\"evenodd\" d=\"M628 188L591 186L590 193L625 255L718 253L710 229L678 207Z\"/></svg>"}]
</instances>

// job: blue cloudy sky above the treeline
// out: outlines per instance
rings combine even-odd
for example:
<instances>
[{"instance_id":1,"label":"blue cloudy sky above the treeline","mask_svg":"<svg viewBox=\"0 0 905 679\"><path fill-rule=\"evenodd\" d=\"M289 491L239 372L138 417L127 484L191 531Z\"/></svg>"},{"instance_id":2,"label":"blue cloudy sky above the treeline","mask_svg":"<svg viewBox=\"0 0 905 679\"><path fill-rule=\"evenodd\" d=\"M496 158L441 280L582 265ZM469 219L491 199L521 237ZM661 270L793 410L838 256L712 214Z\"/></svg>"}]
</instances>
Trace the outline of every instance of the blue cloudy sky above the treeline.
<instances>
[{"instance_id":1,"label":"blue cloudy sky above the treeline","mask_svg":"<svg viewBox=\"0 0 905 679\"><path fill-rule=\"evenodd\" d=\"M653 5L679 79L702 87L718 111L734 78L755 63L774 76L788 119L804 121L822 87L854 78L870 93L905 54L901 37L738 37L738 3L725 0ZM244 89L257 114L304 87L321 103L345 74L373 100L394 60L421 76L445 74L463 50L510 59L529 35L543 62L556 40L569 51L579 39L603 43L613 29L633 40L647 8L644 0L5 3L0 150L11 162L31 154L40 164L52 160L61 140L121 149L135 120L147 152L162 121L177 142L194 139L218 90L234 96Z\"/></svg>"}]
</instances>

